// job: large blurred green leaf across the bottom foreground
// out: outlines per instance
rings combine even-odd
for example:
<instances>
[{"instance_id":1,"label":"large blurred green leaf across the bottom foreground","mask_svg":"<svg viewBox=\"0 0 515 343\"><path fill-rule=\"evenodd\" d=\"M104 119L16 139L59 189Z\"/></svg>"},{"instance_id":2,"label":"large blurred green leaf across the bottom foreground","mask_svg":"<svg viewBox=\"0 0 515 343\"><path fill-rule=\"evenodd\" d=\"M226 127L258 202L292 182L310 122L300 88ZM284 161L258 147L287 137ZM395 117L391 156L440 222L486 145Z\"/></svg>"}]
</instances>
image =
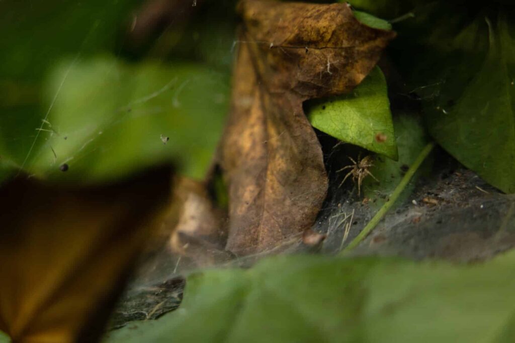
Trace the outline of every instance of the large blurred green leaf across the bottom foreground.
<instances>
[{"instance_id":1,"label":"large blurred green leaf across the bottom foreground","mask_svg":"<svg viewBox=\"0 0 515 343\"><path fill-rule=\"evenodd\" d=\"M180 310L106 342L510 341L514 265L271 257L190 276Z\"/></svg>"}]
</instances>

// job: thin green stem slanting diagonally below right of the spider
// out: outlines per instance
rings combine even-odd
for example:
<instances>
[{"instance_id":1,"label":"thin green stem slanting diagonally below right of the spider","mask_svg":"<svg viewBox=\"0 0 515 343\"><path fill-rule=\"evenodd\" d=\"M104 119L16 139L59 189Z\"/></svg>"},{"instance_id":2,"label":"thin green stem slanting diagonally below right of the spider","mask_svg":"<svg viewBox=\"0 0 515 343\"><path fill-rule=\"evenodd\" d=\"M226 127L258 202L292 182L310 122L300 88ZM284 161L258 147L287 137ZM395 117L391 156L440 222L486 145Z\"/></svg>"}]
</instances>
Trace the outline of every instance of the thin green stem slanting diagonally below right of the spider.
<instances>
[{"instance_id":1,"label":"thin green stem slanting diagonally below right of the spider","mask_svg":"<svg viewBox=\"0 0 515 343\"><path fill-rule=\"evenodd\" d=\"M363 228L363 230L359 232L357 237L354 238L352 242L350 242L349 245L347 245L347 247L340 252L340 255L345 255L347 254L347 252L354 249L359 243L361 243L361 241L365 239L365 237L368 236L370 231L374 229L377 223L379 223L379 221L383 219L383 216L396 202L399 195L401 195L404 188L406 188L407 184L409 183L413 175L415 175L415 172L418 170L424 159L427 157L427 155L429 155L429 153L433 150L434 147L435 142L427 143L427 145L424 147L424 149L422 149L420 154L415 159L414 163L411 165L411 167L409 167L408 171L401 179L399 185L397 185L397 187L393 190L393 193L391 193L389 201L386 204L384 204L383 207L381 207L379 211L377 211L377 213L375 213L373 218L370 220L370 222L368 222L368 224Z\"/></svg>"}]
</instances>

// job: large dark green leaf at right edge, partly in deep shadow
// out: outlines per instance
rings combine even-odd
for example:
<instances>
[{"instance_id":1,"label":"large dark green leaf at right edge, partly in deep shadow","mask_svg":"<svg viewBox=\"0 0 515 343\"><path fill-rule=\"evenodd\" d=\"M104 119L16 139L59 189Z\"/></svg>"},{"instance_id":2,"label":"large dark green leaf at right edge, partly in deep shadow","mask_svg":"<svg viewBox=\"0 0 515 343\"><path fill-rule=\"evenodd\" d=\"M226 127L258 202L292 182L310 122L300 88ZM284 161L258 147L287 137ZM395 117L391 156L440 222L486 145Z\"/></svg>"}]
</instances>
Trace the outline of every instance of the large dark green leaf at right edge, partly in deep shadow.
<instances>
[{"instance_id":1,"label":"large dark green leaf at right edge, partly in deep shadow","mask_svg":"<svg viewBox=\"0 0 515 343\"><path fill-rule=\"evenodd\" d=\"M400 23L392 52L431 135L488 183L515 192L513 8L438 3L416 13Z\"/></svg>"}]
</instances>

